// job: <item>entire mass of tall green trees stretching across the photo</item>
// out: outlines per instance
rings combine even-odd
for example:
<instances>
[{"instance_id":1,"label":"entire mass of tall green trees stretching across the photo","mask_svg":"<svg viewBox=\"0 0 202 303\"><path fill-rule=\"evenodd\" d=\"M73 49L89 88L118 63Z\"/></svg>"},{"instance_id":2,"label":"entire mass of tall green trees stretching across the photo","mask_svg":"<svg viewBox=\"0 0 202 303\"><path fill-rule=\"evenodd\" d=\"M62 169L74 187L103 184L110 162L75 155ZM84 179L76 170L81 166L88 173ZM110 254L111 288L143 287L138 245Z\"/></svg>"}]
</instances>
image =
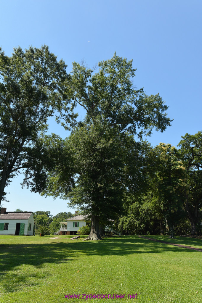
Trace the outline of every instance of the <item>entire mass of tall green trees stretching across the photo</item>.
<instances>
[{"instance_id":1,"label":"entire mass of tall green trees stretching across the photo","mask_svg":"<svg viewBox=\"0 0 202 303\"><path fill-rule=\"evenodd\" d=\"M89 240L120 217L126 233L157 232L146 225L150 217L173 236L185 211L191 233L200 232L201 133L186 134L179 149L143 141L172 120L159 94L135 88L132 60L115 53L95 69L76 62L66 69L45 45L14 48L11 57L0 51L0 202L23 171L22 186L68 199L91 217ZM80 121L78 107L86 113ZM71 131L68 138L46 134L51 116ZM129 218L144 219L129 229Z\"/></svg>"}]
</instances>

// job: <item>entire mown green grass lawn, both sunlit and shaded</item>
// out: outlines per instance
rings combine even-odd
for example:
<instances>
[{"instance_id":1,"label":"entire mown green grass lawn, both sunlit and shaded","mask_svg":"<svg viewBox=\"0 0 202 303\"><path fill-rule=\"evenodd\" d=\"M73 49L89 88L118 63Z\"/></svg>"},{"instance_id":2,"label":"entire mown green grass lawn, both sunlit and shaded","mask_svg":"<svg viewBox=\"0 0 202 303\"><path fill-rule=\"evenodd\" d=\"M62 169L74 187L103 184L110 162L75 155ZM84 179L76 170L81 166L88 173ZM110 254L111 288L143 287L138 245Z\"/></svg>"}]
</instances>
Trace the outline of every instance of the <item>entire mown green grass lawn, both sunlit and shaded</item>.
<instances>
[{"instance_id":1,"label":"entire mown green grass lawn, both sunlit and shaded","mask_svg":"<svg viewBox=\"0 0 202 303\"><path fill-rule=\"evenodd\" d=\"M103 241L52 237L0 236L1 303L202 302L200 251L137 236ZM202 248L202 240L178 238L179 244ZM91 293L125 298L65 298Z\"/></svg>"}]
</instances>

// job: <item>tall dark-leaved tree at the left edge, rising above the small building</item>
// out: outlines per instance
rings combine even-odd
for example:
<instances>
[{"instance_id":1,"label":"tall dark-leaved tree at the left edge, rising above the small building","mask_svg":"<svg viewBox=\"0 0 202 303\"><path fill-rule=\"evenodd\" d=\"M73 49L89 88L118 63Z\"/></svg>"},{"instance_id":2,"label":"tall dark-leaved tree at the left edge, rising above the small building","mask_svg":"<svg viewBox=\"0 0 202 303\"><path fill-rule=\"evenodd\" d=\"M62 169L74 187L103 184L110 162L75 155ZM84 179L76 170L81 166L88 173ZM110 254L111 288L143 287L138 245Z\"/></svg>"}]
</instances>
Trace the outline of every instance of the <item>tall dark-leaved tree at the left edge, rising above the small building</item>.
<instances>
[{"instance_id":1,"label":"tall dark-leaved tree at the left edge, rising above the small building","mask_svg":"<svg viewBox=\"0 0 202 303\"><path fill-rule=\"evenodd\" d=\"M44 166L51 165L42 144L47 119L56 117L68 128L77 116L68 107L66 66L46 45L14 48L11 57L0 48L0 204L5 186L23 168L32 191L45 186Z\"/></svg>"}]
</instances>

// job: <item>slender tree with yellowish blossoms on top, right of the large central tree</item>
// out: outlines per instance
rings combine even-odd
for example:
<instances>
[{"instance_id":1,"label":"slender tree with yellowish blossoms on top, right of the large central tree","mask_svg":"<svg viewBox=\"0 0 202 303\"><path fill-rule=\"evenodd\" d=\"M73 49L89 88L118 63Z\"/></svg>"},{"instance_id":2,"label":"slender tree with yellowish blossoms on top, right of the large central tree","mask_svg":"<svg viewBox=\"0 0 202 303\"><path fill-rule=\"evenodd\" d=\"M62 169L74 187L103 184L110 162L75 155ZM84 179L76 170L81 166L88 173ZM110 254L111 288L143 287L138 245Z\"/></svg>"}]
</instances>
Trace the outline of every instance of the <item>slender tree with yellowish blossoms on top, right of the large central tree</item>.
<instances>
[{"instance_id":1,"label":"slender tree with yellowish blossoms on top, right of the large central tree","mask_svg":"<svg viewBox=\"0 0 202 303\"><path fill-rule=\"evenodd\" d=\"M173 226L183 218L183 193L186 171L179 160L179 151L170 144L160 143L154 148L157 172L153 178L153 192L161 205L164 219L173 238Z\"/></svg>"}]
</instances>

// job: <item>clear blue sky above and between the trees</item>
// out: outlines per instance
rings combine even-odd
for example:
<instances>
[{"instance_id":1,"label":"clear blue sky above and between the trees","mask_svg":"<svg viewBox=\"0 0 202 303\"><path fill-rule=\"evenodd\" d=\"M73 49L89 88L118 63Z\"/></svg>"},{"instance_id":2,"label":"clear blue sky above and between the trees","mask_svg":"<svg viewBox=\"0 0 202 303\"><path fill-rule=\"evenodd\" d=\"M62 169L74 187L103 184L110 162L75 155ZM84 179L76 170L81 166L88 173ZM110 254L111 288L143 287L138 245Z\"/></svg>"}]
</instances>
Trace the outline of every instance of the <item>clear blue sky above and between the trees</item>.
<instances>
[{"instance_id":1,"label":"clear blue sky above and between the trees","mask_svg":"<svg viewBox=\"0 0 202 303\"><path fill-rule=\"evenodd\" d=\"M46 44L65 60L68 72L73 61L84 59L91 67L115 51L133 59L136 87L148 95L159 92L174 119L165 132L147 138L153 146L176 146L185 133L201 131L201 0L1 0L0 11L0 45L6 55L18 45ZM50 131L67 136L53 120ZM6 188L8 211L71 211L66 201L21 189L21 181L22 175Z\"/></svg>"}]
</instances>

